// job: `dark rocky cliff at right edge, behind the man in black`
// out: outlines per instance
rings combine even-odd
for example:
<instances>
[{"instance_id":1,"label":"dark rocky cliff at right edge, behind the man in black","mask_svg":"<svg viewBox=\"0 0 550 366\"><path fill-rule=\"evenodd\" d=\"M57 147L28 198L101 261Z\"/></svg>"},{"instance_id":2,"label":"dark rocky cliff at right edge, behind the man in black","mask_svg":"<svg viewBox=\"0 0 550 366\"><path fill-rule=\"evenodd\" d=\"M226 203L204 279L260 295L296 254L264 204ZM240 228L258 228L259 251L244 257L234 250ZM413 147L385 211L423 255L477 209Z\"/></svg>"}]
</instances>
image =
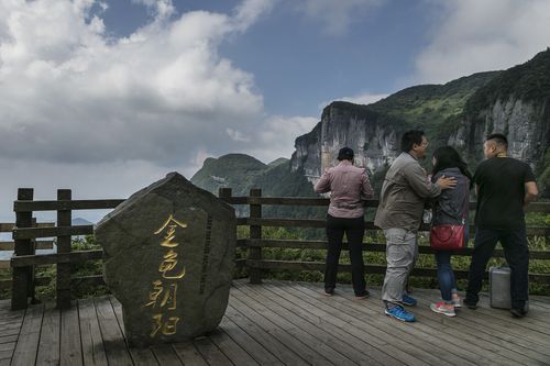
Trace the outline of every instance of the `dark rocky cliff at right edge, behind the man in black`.
<instances>
[{"instance_id":1,"label":"dark rocky cliff at right edge, behind the man in black","mask_svg":"<svg viewBox=\"0 0 550 366\"><path fill-rule=\"evenodd\" d=\"M471 160L483 157L484 137L507 135L510 156L546 168L550 146L550 51L495 77L468 101L462 121L449 138Z\"/></svg>"}]
</instances>

